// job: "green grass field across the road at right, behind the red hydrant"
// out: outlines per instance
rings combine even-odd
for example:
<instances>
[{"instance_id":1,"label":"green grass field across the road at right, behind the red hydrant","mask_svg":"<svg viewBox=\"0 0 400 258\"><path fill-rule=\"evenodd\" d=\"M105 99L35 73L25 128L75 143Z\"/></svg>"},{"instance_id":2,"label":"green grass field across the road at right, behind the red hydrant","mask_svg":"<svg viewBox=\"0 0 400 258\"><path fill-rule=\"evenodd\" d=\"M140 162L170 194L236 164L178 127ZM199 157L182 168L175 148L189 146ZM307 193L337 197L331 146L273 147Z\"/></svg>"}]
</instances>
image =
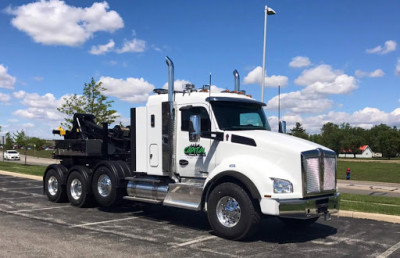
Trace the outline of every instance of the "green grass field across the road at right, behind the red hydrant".
<instances>
[{"instance_id":1,"label":"green grass field across the road at right, behind the red hydrant","mask_svg":"<svg viewBox=\"0 0 400 258\"><path fill-rule=\"evenodd\" d=\"M400 183L400 163L338 160L338 179L346 179L347 168L351 169L352 180Z\"/></svg>"}]
</instances>

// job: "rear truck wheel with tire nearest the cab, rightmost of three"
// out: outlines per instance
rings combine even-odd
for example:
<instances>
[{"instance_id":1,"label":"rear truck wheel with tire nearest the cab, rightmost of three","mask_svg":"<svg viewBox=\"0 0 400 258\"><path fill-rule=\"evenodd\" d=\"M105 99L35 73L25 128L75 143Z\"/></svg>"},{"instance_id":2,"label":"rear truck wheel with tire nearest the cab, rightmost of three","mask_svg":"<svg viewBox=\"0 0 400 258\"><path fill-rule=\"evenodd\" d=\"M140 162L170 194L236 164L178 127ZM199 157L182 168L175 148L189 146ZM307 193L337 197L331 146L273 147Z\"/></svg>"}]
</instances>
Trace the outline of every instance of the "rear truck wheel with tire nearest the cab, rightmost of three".
<instances>
[{"instance_id":1,"label":"rear truck wheel with tire nearest the cab, rightmost of three","mask_svg":"<svg viewBox=\"0 0 400 258\"><path fill-rule=\"evenodd\" d=\"M121 191L117 187L117 180L110 169L105 166L98 167L94 172L92 192L100 206L114 206L122 199Z\"/></svg>"}]
</instances>

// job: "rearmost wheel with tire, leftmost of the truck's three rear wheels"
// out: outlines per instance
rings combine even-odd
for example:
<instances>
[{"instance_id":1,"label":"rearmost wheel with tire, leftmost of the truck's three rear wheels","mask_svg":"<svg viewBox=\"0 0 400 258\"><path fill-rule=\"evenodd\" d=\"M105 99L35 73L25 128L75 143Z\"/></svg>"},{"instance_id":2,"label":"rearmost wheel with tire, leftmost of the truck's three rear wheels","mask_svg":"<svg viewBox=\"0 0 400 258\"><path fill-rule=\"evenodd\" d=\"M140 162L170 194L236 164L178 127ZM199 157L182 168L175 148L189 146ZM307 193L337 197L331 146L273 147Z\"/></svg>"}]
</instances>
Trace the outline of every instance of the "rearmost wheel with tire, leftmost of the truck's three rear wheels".
<instances>
[{"instance_id":1,"label":"rearmost wheel with tire, leftmost of the truck's three rear wheels","mask_svg":"<svg viewBox=\"0 0 400 258\"><path fill-rule=\"evenodd\" d=\"M67 193L65 186L62 185L61 175L54 168L50 168L46 173L44 191L49 201L65 202L67 200Z\"/></svg>"}]
</instances>

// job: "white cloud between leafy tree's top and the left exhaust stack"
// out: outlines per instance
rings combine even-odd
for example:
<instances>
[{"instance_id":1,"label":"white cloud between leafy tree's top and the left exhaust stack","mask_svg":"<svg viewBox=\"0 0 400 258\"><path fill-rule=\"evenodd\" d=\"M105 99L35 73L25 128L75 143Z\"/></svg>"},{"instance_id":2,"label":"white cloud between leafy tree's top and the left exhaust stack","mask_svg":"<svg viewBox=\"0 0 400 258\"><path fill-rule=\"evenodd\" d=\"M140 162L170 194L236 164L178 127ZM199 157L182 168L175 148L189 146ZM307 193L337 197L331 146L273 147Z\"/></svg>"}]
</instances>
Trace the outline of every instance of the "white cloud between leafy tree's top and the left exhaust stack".
<instances>
[{"instance_id":1,"label":"white cloud between leafy tree's top and the left exhaust stack","mask_svg":"<svg viewBox=\"0 0 400 258\"><path fill-rule=\"evenodd\" d=\"M102 76L99 81L107 89L104 92L105 95L132 103L145 102L154 89L154 85L143 78L124 80Z\"/></svg>"}]
</instances>

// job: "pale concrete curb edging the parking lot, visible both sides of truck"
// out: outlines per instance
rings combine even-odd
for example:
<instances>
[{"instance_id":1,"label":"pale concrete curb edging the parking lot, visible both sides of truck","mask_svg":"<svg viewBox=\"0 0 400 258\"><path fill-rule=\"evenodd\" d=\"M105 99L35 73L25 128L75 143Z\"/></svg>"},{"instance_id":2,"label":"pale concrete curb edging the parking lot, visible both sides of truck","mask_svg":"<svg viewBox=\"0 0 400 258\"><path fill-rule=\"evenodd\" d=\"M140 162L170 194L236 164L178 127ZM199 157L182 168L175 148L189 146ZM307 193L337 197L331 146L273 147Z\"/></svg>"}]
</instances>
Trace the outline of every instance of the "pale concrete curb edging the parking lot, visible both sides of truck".
<instances>
[{"instance_id":1,"label":"pale concrete curb edging the parking lot, visible both sides of truck","mask_svg":"<svg viewBox=\"0 0 400 258\"><path fill-rule=\"evenodd\" d=\"M36 180L36 181L43 180L43 177L41 177L41 176L19 174L19 173L8 172L8 171L3 171L3 170L0 170L0 175L14 176L14 177L19 177L19 178L27 178L27 179L32 179L32 180ZM333 216L350 217L350 218L357 218L357 219L370 219L370 220L385 221L385 222L400 224L400 216L378 214L378 213L366 213L366 212L358 212L358 211L340 210L339 214L333 214Z\"/></svg>"}]
</instances>

